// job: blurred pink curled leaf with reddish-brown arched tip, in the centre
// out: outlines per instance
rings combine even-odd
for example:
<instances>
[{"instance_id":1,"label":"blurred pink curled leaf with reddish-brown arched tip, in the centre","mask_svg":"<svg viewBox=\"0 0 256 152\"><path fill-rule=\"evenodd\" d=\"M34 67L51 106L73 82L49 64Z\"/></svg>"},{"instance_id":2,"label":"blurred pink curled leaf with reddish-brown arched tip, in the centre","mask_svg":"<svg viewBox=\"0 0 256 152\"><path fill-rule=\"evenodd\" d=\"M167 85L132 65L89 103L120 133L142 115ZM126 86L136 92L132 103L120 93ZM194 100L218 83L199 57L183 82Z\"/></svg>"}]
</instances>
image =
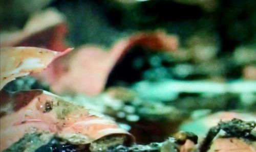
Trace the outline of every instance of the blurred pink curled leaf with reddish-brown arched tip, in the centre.
<instances>
[{"instance_id":1,"label":"blurred pink curled leaf with reddish-brown arched tip, in the centre","mask_svg":"<svg viewBox=\"0 0 256 152\"><path fill-rule=\"evenodd\" d=\"M108 75L126 52L133 46L151 50L175 50L178 40L163 32L137 33L119 40L108 51L98 46L83 46L75 54L54 61L42 73L51 89L58 93L85 93L97 95L102 91Z\"/></svg>"}]
</instances>

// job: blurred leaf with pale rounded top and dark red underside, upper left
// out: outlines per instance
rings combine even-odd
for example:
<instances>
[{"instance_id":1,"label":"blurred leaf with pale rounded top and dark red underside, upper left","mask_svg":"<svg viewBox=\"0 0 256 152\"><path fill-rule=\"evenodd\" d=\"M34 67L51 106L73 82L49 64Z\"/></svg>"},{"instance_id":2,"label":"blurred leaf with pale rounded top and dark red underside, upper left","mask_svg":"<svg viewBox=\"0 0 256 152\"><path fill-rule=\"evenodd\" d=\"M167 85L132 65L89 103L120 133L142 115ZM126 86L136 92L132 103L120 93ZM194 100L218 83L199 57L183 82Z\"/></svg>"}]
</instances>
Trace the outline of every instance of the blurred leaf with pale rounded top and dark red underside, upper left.
<instances>
[{"instance_id":1,"label":"blurred leaf with pale rounded top and dark red underside, upper left","mask_svg":"<svg viewBox=\"0 0 256 152\"><path fill-rule=\"evenodd\" d=\"M63 51L67 49L65 21L65 16L53 8L37 12L22 30L1 31L0 46L37 46Z\"/></svg>"}]
</instances>

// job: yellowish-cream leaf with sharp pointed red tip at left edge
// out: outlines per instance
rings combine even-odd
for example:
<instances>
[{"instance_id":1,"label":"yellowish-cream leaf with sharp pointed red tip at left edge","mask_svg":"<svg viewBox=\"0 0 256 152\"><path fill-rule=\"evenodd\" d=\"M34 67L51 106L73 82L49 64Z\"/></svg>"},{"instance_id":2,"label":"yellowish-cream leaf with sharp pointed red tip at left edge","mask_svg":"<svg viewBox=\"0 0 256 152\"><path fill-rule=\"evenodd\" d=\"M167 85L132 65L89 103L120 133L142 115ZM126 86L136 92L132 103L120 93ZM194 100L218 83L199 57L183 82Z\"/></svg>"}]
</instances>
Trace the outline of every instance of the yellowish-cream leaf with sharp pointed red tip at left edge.
<instances>
[{"instance_id":1,"label":"yellowish-cream leaf with sharp pointed red tip at left edge","mask_svg":"<svg viewBox=\"0 0 256 152\"><path fill-rule=\"evenodd\" d=\"M61 56L63 53L38 47L1 48L0 89L17 77L23 77L31 72L44 70L53 59Z\"/></svg>"}]
</instances>

